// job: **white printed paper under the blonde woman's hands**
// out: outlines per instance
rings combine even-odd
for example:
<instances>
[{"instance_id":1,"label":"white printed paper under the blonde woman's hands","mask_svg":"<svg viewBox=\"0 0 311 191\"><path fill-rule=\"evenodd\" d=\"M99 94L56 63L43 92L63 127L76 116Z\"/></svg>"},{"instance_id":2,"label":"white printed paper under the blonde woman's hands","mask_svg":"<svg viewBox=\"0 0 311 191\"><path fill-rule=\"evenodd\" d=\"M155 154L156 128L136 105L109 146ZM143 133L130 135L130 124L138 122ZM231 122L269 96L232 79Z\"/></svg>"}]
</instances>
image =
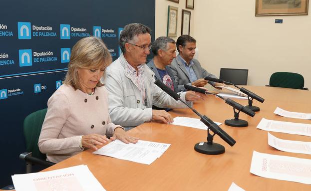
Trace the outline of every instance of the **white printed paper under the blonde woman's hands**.
<instances>
[{"instance_id":1,"label":"white printed paper under the blonde woman's hands","mask_svg":"<svg viewBox=\"0 0 311 191\"><path fill-rule=\"evenodd\" d=\"M159 158L171 144L139 140L136 144L115 140L93 154L150 165Z\"/></svg>"}]
</instances>

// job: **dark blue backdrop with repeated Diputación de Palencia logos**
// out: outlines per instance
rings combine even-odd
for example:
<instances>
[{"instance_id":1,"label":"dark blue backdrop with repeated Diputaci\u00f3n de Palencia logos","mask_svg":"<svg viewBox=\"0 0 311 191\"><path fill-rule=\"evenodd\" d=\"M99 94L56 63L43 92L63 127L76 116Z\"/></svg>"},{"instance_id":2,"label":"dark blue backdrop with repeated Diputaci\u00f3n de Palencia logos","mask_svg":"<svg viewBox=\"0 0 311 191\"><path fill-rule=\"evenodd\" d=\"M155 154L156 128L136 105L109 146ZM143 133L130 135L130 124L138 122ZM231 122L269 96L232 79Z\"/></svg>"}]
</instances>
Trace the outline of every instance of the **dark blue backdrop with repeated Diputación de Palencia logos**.
<instances>
[{"instance_id":1,"label":"dark blue backdrop with repeated Diputaci\u00f3n de Palencia logos","mask_svg":"<svg viewBox=\"0 0 311 191\"><path fill-rule=\"evenodd\" d=\"M155 0L1 1L0 188L11 184L11 175L25 173L18 159L25 151L23 120L47 107L62 84L72 46L83 37L101 37L115 60L119 34L132 22L149 26L154 40Z\"/></svg>"}]
</instances>

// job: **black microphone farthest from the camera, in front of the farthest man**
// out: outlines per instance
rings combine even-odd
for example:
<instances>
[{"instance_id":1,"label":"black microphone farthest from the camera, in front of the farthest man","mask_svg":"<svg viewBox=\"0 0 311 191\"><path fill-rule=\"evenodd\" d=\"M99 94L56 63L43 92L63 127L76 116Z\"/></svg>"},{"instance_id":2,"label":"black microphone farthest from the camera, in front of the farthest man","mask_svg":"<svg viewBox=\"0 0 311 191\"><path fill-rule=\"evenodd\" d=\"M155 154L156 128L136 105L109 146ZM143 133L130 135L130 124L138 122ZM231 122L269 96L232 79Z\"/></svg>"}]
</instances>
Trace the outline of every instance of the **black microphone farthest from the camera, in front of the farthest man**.
<instances>
[{"instance_id":1,"label":"black microphone farthest from the camera, in front of the farthest man","mask_svg":"<svg viewBox=\"0 0 311 191\"><path fill-rule=\"evenodd\" d=\"M235 87L237 87L238 89L240 89L241 92L245 93L248 98L249 98L249 105L246 106L247 108L253 110L253 111L260 111L260 108L259 107L256 107L256 106L253 106L253 99L256 99L257 101L261 102L261 103L264 103L265 99L260 97L259 95L256 95L255 93L251 92L250 90L247 90L246 88L240 88L239 86L231 83L231 82L226 82L224 80L221 80L221 79L217 79L217 78L211 78L211 77L205 77L204 78L205 80L209 80L209 81L212 81L212 82L219 82L219 83L225 83L225 84L229 84L229 85L234 85ZM252 98L252 99L250 99Z\"/></svg>"}]
</instances>

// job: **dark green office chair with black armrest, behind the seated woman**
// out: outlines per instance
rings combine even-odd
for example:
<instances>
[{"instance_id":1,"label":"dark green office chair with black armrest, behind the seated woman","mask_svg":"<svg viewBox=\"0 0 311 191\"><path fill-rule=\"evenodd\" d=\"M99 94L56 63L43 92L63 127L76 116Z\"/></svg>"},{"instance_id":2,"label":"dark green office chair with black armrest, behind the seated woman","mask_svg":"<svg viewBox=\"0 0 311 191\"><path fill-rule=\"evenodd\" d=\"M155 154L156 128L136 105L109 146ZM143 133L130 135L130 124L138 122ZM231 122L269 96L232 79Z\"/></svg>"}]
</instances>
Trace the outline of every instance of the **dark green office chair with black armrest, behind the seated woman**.
<instances>
[{"instance_id":1,"label":"dark green office chair with black armrest, behind the seated woman","mask_svg":"<svg viewBox=\"0 0 311 191\"><path fill-rule=\"evenodd\" d=\"M46 168L55 165L55 163L46 161L46 155L42 154L38 148L38 139L46 111L46 108L38 110L24 119L23 128L26 152L20 154L19 158L26 162L26 173L31 173L32 165L34 164L39 164Z\"/></svg>"}]
</instances>

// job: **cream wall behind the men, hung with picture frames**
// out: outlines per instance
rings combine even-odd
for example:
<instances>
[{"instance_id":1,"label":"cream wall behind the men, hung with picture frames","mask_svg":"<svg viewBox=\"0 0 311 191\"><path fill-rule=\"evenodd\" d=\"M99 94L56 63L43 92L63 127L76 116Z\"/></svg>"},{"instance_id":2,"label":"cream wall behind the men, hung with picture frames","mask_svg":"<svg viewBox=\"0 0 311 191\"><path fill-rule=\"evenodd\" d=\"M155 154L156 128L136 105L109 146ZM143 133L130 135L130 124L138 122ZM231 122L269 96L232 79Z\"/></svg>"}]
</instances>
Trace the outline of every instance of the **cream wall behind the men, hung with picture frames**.
<instances>
[{"instance_id":1,"label":"cream wall behind the men, hung with picture frames","mask_svg":"<svg viewBox=\"0 0 311 191\"><path fill-rule=\"evenodd\" d=\"M167 19L168 2L156 0L156 37L166 34L159 20ZM274 23L276 18L283 24ZM255 0L195 0L191 13L190 35L197 39L201 64L216 76L221 67L249 69L249 85L264 86L272 73L289 71L302 74L311 88L310 34L310 15L255 16Z\"/></svg>"}]
</instances>

